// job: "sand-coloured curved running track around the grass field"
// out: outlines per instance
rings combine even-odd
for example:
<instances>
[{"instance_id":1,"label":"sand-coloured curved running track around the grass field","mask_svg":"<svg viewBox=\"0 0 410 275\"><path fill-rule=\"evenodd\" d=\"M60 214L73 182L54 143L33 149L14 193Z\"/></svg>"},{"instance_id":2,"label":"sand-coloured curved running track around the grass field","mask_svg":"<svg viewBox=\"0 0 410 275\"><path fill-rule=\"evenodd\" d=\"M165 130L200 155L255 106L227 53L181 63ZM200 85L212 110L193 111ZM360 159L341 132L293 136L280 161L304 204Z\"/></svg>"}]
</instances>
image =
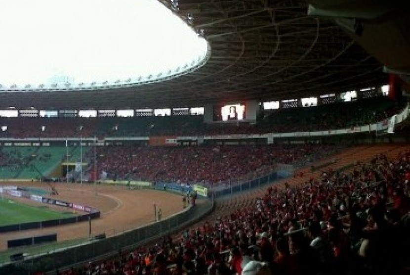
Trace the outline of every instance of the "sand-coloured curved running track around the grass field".
<instances>
[{"instance_id":1,"label":"sand-coloured curved running track around the grass field","mask_svg":"<svg viewBox=\"0 0 410 275\"><path fill-rule=\"evenodd\" d=\"M49 190L45 183L0 183L1 185L33 186ZM55 199L91 206L101 211L101 218L91 222L91 234L107 236L154 222L154 203L162 209L162 218L182 210L182 197L177 194L149 189L128 190L126 186L53 183L59 192ZM10 197L15 199L14 197ZM28 201L28 200L26 200ZM32 202L31 202L32 203ZM47 205L41 204L39 205ZM73 211L59 207L59 211ZM57 241L88 237L88 222L45 229L32 229L0 234L0 250L7 240L57 233Z\"/></svg>"}]
</instances>

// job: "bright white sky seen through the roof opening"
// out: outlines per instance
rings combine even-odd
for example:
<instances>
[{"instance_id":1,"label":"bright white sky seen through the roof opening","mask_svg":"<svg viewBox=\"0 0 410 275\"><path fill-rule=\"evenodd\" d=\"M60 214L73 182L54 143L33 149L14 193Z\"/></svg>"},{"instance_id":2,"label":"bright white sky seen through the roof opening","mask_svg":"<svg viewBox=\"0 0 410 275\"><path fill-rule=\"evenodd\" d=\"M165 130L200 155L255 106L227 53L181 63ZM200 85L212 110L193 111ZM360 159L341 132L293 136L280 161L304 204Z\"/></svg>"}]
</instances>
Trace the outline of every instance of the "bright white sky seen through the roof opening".
<instances>
[{"instance_id":1,"label":"bright white sky seen through the roof opening","mask_svg":"<svg viewBox=\"0 0 410 275\"><path fill-rule=\"evenodd\" d=\"M157 0L0 0L0 90L171 78L208 44Z\"/></svg>"}]
</instances>

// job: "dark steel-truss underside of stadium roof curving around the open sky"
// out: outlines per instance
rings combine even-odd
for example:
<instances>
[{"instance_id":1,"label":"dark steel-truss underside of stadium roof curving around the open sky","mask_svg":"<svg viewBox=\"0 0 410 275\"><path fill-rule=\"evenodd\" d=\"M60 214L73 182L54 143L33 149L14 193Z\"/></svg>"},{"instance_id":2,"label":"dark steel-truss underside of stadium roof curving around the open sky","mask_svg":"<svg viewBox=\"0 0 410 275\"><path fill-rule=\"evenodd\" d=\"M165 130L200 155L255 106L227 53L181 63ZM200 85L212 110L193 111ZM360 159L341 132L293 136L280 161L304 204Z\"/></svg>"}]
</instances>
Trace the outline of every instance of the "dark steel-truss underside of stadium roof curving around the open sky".
<instances>
[{"instance_id":1,"label":"dark steel-truss underside of stadium roof curving around the open sky","mask_svg":"<svg viewBox=\"0 0 410 275\"><path fill-rule=\"evenodd\" d=\"M194 107L289 99L387 83L383 65L355 42L355 34L348 36L333 18L308 15L304 0L163 2L181 18L192 16L192 27L209 42L211 54L200 69L128 88L0 92L0 109ZM322 2L326 1L315 4Z\"/></svg>"}]
</instances>

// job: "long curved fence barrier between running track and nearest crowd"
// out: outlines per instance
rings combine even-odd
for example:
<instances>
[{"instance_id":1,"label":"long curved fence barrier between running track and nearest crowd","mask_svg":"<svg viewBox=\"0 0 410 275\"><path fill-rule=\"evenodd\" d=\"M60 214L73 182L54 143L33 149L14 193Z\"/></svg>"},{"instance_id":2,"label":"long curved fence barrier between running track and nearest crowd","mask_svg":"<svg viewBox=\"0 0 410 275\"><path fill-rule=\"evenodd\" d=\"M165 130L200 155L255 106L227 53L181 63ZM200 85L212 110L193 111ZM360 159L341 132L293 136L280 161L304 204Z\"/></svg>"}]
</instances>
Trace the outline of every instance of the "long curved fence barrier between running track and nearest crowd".
<instances>
[{"instance_id":1,"label":"long curved fence barrier between running track and nearest crowd","mask_svg":"<svg viewBox=\"0 0 410 275\"><path fill-rule=\"evenodd\" d=\"M116 255L120 249L132 249L194 223L208 214L212 208L213 202L207 200L203 204L188 208L163 221L129 230L109 238L94 239L74 247L48 251L36 257L33 256L5 264L0 266L0 274L30 275L36 271L52 272L57 268L61 271L63 268L110 257Z\"/></svg>"}]
</instances>

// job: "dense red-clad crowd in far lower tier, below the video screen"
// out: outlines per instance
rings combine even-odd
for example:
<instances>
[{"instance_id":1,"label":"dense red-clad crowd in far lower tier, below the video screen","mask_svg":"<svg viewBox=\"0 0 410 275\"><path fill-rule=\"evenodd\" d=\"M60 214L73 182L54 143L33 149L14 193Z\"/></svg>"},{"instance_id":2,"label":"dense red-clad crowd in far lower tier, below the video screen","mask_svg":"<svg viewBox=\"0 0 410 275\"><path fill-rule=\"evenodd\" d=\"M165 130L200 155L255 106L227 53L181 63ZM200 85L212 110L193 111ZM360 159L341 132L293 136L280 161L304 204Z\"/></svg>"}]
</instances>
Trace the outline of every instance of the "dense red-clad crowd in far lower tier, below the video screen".
<instances>
[{"instance_id":1,"label":"dense red-clad crowd in far lower tier, below the video screen","mask_svg":"<svg viewBox=\"0 0 410 275\"><path fill-rule=\"evenodd\" d=\"M98 148L97 175L154 183L230 184L271 172L277 163L294 163L333 149L322 144L113 146Z\"/></svg>"}]
</instances>

